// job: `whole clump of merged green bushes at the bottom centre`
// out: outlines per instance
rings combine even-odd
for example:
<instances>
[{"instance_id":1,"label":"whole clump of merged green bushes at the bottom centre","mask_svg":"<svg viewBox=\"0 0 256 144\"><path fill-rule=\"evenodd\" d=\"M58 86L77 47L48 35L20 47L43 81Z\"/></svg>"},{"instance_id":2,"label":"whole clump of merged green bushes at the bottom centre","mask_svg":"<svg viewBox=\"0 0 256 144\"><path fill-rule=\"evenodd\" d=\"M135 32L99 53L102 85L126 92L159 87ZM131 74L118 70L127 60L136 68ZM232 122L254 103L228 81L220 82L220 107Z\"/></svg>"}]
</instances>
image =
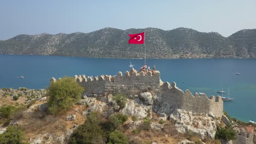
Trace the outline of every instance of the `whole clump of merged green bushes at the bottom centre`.
<instances>
[{"instance_id":1,"label":"whole clump of merged green bushes at the bottom centre","mask_svg":"<svg viewBox=\"0 0 256 144\"><path fill-rule=\"evenodd\" d=\"M127 116L121 113L105 119L100 113L92 112L73 132L69 143L128 143L123 132L117 130L126 120Z\"/></svg>"}]
</instances>

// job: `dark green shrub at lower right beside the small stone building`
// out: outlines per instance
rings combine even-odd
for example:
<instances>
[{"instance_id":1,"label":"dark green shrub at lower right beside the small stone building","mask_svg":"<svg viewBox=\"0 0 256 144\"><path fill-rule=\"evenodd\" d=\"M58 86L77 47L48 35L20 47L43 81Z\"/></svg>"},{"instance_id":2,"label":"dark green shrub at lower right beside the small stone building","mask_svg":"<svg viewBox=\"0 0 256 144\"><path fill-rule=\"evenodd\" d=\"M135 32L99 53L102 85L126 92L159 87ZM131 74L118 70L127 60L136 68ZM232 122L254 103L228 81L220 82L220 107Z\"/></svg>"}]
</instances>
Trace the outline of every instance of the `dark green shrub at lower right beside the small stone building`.
<instances>
[{"instance_id":1,"label":"dark green shrub at lower right beside the small stone building","mask_svg":"<svg viewBox=\"0 0 256 144\"><path fill-rule=\"evenodd\" d=\"M235 140L236 139L236 131L232 129L230 126L226 128L218 127L216 131L216 139L220 140Z\"/></svg>"}]
</instances>

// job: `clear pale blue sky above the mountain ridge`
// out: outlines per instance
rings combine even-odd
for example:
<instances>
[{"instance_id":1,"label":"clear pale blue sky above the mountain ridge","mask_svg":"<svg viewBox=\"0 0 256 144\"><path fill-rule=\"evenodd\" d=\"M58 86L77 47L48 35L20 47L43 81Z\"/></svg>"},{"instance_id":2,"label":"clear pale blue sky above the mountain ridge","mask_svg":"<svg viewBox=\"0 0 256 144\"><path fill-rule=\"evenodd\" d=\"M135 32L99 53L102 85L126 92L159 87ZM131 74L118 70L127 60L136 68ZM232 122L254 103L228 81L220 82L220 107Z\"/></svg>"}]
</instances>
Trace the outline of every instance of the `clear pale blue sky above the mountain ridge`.
<instances>
[{"instance_id":1,"label":"clear pale blue sky above the mountain ridge","mask_svg":"<svg viewBox=\"0 0 256 144\"><path fill-rule=\"evenodd\" d=\"M0 0L0 40L18 34L156 27L193 28L225 37L256 28L255 0Z\"/></svg>"}]
</instances>

